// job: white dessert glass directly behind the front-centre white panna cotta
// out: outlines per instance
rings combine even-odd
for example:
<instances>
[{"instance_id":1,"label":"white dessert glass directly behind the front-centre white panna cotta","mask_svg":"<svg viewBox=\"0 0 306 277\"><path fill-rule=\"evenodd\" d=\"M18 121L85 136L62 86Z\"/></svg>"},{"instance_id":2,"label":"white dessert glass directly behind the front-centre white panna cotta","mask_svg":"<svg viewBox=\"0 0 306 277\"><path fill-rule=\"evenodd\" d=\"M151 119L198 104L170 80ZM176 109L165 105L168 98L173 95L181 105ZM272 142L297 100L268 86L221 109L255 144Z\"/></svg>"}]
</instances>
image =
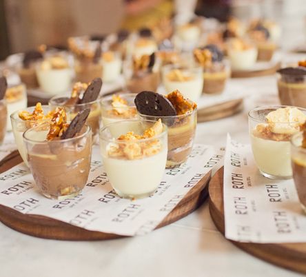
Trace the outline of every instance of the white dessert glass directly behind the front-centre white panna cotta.
<instances>
[{"instance_id":1,"label":"white dessert glass directly behind the front-centre white panna cotta","mask_svg":"<svg viewBox=\"0 0 306 277\"><path fill-rule=\"evenodd\" d=\"M103 126L115 123L118 121L136 119L137 110L134 103L136 94L121 93L105 96L101 100L101 115ZM125 134L130 131L128 125L126 130L116 129L116 125L110 127L110 131L114 137ZM122 127L122 126L121 126Z\"/></svg>"}]
</instances>

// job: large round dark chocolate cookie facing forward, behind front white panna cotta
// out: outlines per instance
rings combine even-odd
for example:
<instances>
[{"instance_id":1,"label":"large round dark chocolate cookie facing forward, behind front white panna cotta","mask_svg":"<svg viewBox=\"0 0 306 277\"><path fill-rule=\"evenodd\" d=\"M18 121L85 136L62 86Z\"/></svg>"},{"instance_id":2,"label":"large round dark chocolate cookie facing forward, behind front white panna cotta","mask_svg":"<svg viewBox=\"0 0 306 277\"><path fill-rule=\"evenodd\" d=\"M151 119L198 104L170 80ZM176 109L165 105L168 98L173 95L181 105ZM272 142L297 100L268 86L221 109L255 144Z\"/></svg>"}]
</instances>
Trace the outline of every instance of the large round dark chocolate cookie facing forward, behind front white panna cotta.
<instances>
[{"instance_id":1,"label":"large round dark chocolate cookie facing forward, behind front white panna cotta","mask_svg":"<svg viewBox=\"0 0 306 277\"><path fill-rule=\"evenodd\" d=\"M135 105L141 114L148 116L176 116L176 110L165 96L156 92L139 92Z\"/></svg>"}]
</instances>

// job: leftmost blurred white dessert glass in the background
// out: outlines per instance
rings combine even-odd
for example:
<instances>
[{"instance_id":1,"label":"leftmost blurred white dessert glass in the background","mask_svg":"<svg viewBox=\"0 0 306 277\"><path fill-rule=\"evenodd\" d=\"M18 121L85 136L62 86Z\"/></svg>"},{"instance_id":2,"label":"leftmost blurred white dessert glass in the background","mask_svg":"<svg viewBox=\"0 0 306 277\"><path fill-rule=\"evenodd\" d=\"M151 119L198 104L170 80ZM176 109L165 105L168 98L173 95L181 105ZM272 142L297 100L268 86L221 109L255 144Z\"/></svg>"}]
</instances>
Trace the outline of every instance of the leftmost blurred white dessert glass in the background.
<instances>
[{"instance_id":1,"label":"leftmost blurred white dessert glass in the background","mask_svg":"<svg viewBox=\"0 0 306 277\"><path fill-rule=\"evenodd\" d=\"M48 57L36 66L40 88L50 96L67 92L72 81L72 69L65 57Z\"/></svg>"}]
</instances>

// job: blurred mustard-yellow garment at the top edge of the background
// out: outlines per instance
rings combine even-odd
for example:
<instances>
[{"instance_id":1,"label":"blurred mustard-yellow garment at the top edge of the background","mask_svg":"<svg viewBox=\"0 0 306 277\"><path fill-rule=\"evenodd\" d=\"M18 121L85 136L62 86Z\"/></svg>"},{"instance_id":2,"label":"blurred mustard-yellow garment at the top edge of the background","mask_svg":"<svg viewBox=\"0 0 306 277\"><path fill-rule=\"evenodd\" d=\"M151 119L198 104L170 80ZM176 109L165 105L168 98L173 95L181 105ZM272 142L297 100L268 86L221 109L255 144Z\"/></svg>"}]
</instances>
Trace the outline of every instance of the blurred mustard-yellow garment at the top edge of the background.
<instances>
[{"instance_id":1,"label":"blurred mustard-yellow garment at the top edge of the background","mask_svg":"<svg viewBox=\"0 0 306 277\"><path fill-rule=\"evenodd\" d=\"M122 28L130 31L139 30L144 27L150 28L159 23L161 19L170 18L172 13L172 0L165 0L142 14L137 14L135 16L128 15L123 20Z\"/></svg>"}]
</instances>

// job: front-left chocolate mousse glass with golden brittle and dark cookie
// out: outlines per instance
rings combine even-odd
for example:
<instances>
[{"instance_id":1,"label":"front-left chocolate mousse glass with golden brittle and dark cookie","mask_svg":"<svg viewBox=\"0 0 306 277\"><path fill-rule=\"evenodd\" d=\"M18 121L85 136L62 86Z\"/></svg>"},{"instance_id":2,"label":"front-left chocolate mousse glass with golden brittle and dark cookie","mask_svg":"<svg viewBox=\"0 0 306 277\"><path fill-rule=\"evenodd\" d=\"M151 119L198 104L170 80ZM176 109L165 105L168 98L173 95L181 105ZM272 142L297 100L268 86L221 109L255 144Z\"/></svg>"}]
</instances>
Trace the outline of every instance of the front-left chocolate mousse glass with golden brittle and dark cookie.
<instances>
[{"instance_id":1,"label":"front-left chocolate mousse glass with golden brittle and dark cookie","mask_svg":"<svg viewBox=\"0 0 306 277\"><path fill-rule=\"evenodd\" d=\"M85 121L90 109L67 123L63 107L51 119L23 135L34 181L48 198L63 199L81 192L88 180L91 159L90 128Z\"/></svg>"}]
</instances>

